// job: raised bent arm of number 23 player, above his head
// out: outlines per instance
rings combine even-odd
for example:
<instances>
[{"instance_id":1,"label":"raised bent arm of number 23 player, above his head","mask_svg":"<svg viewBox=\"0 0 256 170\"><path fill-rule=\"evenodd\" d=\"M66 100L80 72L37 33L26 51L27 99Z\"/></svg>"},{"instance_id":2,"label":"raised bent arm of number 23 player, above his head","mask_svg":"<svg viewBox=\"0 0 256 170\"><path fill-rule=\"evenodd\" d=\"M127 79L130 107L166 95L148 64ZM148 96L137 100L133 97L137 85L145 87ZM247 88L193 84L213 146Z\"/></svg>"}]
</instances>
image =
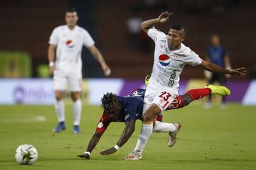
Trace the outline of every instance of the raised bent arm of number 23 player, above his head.
<instances>
[{"instance_id":1,"label":"raised bent arm of number 23 player, above his head","mask_svg":"<svg viewBox=\"0 0 256 170\"><path fill-rule=\"evenodd\" d=\"M141 23L142 30L145 33L147 33L149 31L149 29L156 26L156 24L165 23L169 19L169 16L171 14L172 13L169 13L169 12L166 11L166 12L161 13L161 15L158 18L149 19L147 21L142 22Z\"/></svg>"}]
</instances>

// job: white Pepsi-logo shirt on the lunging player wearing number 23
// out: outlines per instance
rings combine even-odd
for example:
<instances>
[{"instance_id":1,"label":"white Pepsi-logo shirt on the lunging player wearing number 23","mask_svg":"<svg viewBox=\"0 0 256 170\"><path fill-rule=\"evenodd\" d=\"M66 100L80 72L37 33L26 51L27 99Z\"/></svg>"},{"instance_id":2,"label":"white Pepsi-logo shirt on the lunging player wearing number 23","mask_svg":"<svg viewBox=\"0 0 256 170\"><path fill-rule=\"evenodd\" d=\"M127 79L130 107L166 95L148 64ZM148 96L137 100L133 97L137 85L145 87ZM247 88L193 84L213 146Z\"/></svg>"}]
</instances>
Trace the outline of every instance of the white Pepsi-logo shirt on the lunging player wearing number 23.
<instances>
[{"instance_id":1,"label":"white Pepsi-logo shirt on the lunging player wearing number 23","mask_svg":"<svg viewBox=\"0 0 256 170\"><path fill-rule=\"evenodd\" d=\"M196 66L201 64L202 59L183 43L180 49L169 50L168 35L156 28L149 29L148 35L155 42L155 51L154 66L146 91L171 90L178 94L178 81L185 64Z\"/></svg>"}]
</instances>

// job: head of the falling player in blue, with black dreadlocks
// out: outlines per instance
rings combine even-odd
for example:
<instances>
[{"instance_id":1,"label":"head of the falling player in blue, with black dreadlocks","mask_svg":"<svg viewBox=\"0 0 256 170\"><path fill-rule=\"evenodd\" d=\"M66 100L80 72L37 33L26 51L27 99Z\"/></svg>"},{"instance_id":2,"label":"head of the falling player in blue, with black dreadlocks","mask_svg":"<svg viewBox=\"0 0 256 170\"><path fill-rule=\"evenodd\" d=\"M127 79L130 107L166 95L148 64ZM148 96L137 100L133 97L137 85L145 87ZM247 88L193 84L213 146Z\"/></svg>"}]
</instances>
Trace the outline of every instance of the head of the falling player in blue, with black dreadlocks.
<instances>
[{"instance_id":1,"label":"head of the falling player in blue, with black dreadlocks","mask_svg":"<svg viewBox=\"0 0 256 170\"><path fill-rule=\"evenodd\" d=\"M113 108L113 103L118 101L117 95L112 93L104 94L100 100L101 106L105 110L105 113L110 114Z\"/></svg>"}]
</instances>

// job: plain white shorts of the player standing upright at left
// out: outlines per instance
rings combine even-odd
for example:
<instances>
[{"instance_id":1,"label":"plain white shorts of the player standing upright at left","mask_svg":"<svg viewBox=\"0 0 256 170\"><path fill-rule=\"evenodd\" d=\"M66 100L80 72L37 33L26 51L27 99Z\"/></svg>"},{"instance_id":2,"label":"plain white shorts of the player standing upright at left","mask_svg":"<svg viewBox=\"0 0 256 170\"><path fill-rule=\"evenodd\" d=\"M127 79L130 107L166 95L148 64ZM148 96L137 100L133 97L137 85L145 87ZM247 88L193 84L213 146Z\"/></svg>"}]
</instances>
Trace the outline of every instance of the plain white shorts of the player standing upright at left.
<instances>
[{"instance_id":1,"label":"plain white shorts of the player standing upright at left","mask_svg":"<svg viewBox=\"0 0 256 170\"><path fill-rule=\"evenodd\" d=\"M65 91L68 82L68 91L82 90L82 73L71 72L64 73L55 70L53 75L53 89L54 91Z\"/></svg>"}]
</instances>

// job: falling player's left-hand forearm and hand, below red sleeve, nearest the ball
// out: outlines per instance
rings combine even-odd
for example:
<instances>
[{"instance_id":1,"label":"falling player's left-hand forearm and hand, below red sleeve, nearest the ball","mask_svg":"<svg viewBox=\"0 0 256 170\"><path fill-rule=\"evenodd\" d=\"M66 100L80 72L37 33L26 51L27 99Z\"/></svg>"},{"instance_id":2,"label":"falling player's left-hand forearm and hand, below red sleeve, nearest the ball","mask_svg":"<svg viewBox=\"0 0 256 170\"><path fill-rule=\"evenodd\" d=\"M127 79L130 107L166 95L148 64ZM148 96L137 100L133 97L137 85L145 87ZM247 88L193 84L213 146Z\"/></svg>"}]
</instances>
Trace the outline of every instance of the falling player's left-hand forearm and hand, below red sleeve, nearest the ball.
<instances>
[{"instance_id":1,"label":"falling player's left-hand forearm and hand, below red sleeve, nearest the ball","mask_svg":"<svg viewBox=\"0 0 256 170\"><path fill-rule=\"evenodd\" d=\"M102 137L102 133L95 132L95 134L92 135L92 139L90 140L87 146L86 152L84 154L78 155L78 157L90 159L90 153L96 147L97 143L100 141L100 137Z\"/></svg>"}]
</instances>

